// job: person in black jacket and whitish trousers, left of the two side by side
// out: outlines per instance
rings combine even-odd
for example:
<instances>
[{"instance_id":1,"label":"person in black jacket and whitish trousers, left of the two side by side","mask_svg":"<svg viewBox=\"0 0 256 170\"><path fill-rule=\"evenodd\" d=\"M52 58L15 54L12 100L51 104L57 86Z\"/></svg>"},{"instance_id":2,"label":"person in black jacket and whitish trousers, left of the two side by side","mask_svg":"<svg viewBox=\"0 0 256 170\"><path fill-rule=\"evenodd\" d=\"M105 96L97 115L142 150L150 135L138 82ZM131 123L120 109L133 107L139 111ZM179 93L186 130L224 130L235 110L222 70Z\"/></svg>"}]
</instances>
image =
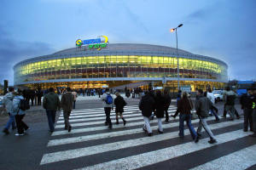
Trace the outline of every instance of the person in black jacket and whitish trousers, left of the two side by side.
<instances>
[{"instance_id":1,"label":"person in black jacket and whitish trousers, left of the two side by side","mask_svg":"<svg viewBox=\"0 0 256 170\"><path fill-rule=\"evenodd\" d=\"M143 130L148 132L148 136L152 136L153 133L149 124L149 116L151 116L152 111L154 111L154 99L149 95L148 91L145 92L145 95L141 99L139 103L139 109L142 111L143 119L145 122Z\"/></svg>"}]
</instances>

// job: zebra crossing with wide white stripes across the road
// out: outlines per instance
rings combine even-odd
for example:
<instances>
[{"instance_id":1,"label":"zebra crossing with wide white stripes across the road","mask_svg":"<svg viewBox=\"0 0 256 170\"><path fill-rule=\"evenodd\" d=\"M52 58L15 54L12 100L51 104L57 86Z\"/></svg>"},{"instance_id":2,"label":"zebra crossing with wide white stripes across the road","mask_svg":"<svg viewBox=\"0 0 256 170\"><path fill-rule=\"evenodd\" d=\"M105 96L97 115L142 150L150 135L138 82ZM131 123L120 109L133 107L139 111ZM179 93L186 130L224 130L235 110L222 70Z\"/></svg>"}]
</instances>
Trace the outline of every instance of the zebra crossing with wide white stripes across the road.
<instances>
[{"instance_id":1,"label":"zebra crossing with wide white stripes across the road","mask_svg":"<svg viewBox=\"0 0 256 170\"><path fill-rule=\"evenodd\" d=\"M169 115L175 106L170 106ZM73 127L70 133L64 130L63 115L59 116L55 132L47 144L40 162L41 169L246 169L256 165L256 141L242 129L243 120L227 122L209 117L207 122L215 134L218 144L208 144L203 131L199 143L190 137L185 128L183 139L178 136L179 119L163 121L164 133L157 132L157 120L150 126L154 135L143 132L143 116L137 105L125 107L123 114L127 124L121 120L113 129L104 125L102 108L75 110L71 113ZM170 116L171 117L171 116ZM198 119L192 121L195 129ZM249 154L249 155L247 155ZM246 155L246 156L245 156ZM197 158L197 159L195 159ZM224 163L228 161L228 163ZM234 162L234 164L232 163Z\"/></svg>"}]
</instances>

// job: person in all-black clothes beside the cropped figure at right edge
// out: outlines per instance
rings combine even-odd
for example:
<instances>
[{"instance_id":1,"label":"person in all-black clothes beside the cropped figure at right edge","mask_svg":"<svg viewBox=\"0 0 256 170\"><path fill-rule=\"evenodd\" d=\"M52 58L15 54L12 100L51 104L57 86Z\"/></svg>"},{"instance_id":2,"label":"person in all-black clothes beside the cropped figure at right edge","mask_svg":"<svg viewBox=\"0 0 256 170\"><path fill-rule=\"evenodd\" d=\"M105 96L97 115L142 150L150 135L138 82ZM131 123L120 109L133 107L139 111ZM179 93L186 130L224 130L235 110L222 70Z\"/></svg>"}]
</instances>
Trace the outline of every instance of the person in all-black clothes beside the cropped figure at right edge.
<instances>
[{"instance_id":1,"label":"person in all-black clothes beside the cropped figure at right edge","mask_svg":"<svg viewBox=\"0 0 256 170\"><path fill-rule=\"evenodd\" d=\"M243 110L244 122L243 131L247 132L248 127L253 132L253 91L247 89L247 94L243 94L240 99L241 110Z\"/></svg>"}]
</instances>

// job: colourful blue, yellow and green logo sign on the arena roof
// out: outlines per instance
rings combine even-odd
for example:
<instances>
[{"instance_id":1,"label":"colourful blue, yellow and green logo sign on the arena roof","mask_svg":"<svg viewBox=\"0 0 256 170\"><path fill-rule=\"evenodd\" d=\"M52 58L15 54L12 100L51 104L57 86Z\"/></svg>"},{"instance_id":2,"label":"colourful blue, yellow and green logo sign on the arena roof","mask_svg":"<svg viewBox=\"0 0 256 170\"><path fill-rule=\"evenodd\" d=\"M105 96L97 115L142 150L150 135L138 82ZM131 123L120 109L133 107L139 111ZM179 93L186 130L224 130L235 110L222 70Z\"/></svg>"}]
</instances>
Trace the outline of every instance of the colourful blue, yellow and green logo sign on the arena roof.
<instances>
[{"instance_id":1,"label":"colourful blue, yellow and green logo sign on the arena roof","mask_svg":"<svg viewBox=\"0 0 256 170\"><path fill-rule=\"evenodd\" d=\"M76 41L76 46L81 47L83 45L89 45L88 48L97 48L97 50L101 50L101 48L107 47L108 37L107 36L101 36L96 39L88 39L88 40L81 40L78 39Z\"/></svg>"}]
</instances>

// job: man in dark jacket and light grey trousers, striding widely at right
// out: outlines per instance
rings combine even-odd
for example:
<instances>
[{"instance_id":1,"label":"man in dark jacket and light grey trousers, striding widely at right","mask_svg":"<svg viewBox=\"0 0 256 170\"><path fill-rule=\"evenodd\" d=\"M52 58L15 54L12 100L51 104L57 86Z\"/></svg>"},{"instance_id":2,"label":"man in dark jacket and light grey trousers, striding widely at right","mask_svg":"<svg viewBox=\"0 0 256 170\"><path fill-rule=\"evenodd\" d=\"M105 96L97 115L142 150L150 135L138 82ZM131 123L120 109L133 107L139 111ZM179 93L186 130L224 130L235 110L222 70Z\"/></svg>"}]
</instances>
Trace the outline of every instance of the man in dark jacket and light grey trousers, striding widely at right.
<instances>
[{"instance_id":1,"label":"man in dark jacket and light grey trousers, striding widely at right","mask_svg":"<svg viewBox=\"0 0 256 170\"><path fill-rule=\"evenodd\" d=\"M201 137L201 128L203 127L206 130L207 134L210 136L210 140L208 141L208 143L214 144L217 141L214 138L210 127L207 124L207 117L209 116L209 111L212 106L212 102L210 99L203 95L203 91L201 89L198 89L197 95L198 99L195 100L195 111L200 121L199 126L197 128L197 137L195 139L195 143L197 143L199 138Z\"/></svg>"}]
</instances>

